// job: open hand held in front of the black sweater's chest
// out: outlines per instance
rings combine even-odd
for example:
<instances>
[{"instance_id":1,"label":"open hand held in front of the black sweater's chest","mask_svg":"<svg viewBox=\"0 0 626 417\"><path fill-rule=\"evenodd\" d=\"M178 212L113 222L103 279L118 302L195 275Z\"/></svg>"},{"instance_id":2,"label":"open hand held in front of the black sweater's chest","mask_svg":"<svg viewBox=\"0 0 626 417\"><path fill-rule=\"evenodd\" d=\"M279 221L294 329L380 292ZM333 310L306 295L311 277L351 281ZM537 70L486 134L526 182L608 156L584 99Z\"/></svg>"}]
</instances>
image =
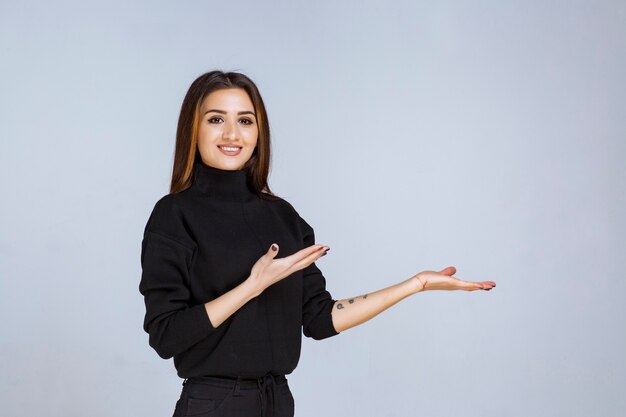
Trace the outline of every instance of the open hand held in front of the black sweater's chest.
<instances>
[{"instance_id":1,"label":"open hand held in front of the black sweater's chest","mask_svg":"<svg viewBox=\"0 0 626 417\"><path fill-rule=\"evenodd\" d=\"M326 245L311 245L293 255L276 259L278 249L276 243L270 245L265 255L261 256L252 267L248 280L250 280L256 290L255 296L261 294L270 285L311 265L324 256L330 250L330 247Z\"/></svg>"}]
</instances>

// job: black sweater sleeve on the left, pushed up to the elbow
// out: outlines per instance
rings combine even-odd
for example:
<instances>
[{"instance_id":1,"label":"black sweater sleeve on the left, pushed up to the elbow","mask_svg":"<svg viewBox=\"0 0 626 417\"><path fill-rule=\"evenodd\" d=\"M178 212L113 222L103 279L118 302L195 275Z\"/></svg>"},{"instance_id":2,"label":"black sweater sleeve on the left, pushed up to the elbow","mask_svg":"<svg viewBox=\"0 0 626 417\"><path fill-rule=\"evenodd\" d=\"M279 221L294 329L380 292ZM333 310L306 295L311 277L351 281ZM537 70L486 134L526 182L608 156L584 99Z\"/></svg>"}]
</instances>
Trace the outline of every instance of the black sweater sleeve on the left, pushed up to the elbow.
<instances>
[{"instance_id":1,"label":"black sweater sleeve on the left, pushed up to the elbow","mask_svg":"<svg viewBox=\"0 0 626 417\"><path fill-rule=\"evenodd\" d=\"M144 296L143 328L152 348L164 359L187 350L215 330L204 304L190 305L189 263L195 244L186 239L177 207L160 200L154 207L141 245Z\"/></svg>"}]
</instances>

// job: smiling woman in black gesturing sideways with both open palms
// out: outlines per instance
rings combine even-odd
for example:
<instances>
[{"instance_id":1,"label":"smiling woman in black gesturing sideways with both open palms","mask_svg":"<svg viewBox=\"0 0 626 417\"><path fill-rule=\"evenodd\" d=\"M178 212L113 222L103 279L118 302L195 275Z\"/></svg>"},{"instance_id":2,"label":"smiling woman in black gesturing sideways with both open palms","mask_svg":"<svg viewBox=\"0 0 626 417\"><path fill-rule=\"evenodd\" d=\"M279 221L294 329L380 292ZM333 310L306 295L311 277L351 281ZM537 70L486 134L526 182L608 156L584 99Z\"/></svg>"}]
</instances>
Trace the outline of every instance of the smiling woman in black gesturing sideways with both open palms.
<instances>
[{"instance_id":1,"label":"smiling woman in black gesturing sideways with both open palms","mask_svg":"<svg viewBox=\"0 0 626 417\"><path fill-rule=\"evenodd\" d=\"M293 416L285 377L302 333L320 340L427 290L490 290L454 267L335 300L315 265L327 245L267 184L270 132L255 84L221 71L183 101L170 194L144 230L144 330L183 382L174 416Z\"/></svg>"}]
</instances>

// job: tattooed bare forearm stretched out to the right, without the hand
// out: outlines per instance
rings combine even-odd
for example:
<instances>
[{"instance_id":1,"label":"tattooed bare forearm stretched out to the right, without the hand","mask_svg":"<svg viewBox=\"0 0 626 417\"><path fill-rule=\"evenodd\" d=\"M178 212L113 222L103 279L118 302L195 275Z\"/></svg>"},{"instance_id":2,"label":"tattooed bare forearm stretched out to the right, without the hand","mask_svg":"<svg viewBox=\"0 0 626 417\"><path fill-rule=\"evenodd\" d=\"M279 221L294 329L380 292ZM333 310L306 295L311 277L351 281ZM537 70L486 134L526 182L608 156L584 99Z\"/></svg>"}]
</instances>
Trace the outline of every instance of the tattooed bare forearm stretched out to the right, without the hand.
<instances>
[{"instance_id":1,"label":"tattooed bare forearm stretched out to the right, without the hand","mask_svg":"<svg viewBox=\"0 0 626 417\"><path fill-rule=\"evenodd\" d=\"M333 305L333 326L337 332L358 326L420 290L419 281L409 278L376 292L339 300Z\"/></svg>"}]
</instances>

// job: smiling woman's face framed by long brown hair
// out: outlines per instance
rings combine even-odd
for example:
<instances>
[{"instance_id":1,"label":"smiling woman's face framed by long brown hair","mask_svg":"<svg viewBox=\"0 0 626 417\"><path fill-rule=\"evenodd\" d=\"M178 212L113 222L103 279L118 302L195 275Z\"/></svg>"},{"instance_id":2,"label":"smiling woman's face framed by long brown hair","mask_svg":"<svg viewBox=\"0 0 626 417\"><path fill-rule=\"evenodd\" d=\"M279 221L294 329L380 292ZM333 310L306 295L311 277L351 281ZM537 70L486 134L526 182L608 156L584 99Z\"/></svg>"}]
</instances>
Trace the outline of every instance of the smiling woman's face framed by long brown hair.
<instances>
[{"instance_id":1,"label":"smiling woman's face framed by long brown hair","mask_svg":"<svg viewBox=\"0 0 626 417\"><path fill-rule=\"evenodd\" d=\"M239 170L252 156L259 128L254 105L241 88L226 88L205 97L200 108L198 150L214 168Z\"/></svg>"}]
</instances>

